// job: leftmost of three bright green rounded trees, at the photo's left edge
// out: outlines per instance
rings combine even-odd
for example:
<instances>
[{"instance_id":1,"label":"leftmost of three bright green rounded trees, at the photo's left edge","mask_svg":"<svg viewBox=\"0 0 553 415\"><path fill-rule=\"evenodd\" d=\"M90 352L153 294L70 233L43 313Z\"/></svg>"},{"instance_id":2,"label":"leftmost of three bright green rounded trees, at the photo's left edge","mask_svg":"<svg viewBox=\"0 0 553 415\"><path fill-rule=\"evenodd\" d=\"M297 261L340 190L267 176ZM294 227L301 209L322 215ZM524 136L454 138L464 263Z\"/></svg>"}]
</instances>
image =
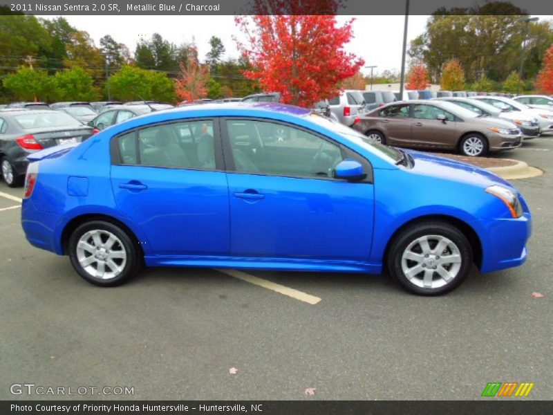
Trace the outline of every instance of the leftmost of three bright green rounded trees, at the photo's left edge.
<instances>
[{"instance_id":1,"label":"leftmost of three bright green rounded trees, at the photo's left edge","mask_svg":"<svg viewBox=\"0 0 553 415\"><path fill-rule=\"evenodd\" d=\"M46 71L21 67L7 75L3 86L21 101L48 101L54 95L54 84Z\"/></svg>"}]
</instances>

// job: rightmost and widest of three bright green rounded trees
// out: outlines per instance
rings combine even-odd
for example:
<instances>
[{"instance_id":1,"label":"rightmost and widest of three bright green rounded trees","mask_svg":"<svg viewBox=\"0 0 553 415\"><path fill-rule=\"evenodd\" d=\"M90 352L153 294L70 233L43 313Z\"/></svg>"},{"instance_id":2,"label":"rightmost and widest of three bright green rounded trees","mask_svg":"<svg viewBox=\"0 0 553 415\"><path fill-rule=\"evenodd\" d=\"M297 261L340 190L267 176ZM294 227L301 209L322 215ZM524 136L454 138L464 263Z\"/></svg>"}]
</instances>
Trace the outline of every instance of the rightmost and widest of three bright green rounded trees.
<instances>
[{"instance_id":1,"label":"rightmost and widest of three bright green rounded trees","mask_svg":"<svg viewBox=\"0 0 553 415\"><path fill-rule=\"evenodd\" d=\"M109 78L113 98L122 101L159 100L174 102L174 82L165 73L125 65Z\"/></svg>"}]
</instances>

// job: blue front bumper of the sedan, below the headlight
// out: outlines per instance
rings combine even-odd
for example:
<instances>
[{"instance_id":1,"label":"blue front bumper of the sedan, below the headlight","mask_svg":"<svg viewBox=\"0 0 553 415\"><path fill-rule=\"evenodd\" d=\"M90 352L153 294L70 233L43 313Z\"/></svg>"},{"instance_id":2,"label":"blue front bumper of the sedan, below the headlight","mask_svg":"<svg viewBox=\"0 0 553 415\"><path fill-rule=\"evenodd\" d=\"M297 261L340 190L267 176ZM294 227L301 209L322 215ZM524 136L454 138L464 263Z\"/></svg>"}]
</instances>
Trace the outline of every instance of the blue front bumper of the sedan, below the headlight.
<instances>
[{"instance_id":1,"label":"blue front bumper of the sedan, below the headlight","mask_svg":"<svg viewBox=\"0 0 553 415\"><path fill-rule=\"evenodd\" d=\"M532 234L532 219L528 212L518 219L482 219L479 223L487 235L482 239L480 272L491 273L524 264L526 243Z\"/></svg>"}]
</instances>

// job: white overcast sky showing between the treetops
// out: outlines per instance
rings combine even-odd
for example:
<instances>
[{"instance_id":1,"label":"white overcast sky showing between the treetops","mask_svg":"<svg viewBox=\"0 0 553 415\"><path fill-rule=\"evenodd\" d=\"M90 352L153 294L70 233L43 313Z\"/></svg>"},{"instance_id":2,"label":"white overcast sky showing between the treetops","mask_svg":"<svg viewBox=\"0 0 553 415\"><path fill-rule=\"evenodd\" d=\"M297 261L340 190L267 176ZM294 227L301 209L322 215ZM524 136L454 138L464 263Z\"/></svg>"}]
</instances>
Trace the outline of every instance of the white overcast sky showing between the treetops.
<instances>
[{"instance_id":1,"label":"white overcast sky showing between the treetops","mask_svg":"<svg viewBox=\"0 0 553 415\"><path fill-rule=\"evenodd\" d=\"M41 16L53 19L56 16ZM200 59L209 51L209 38L218 36L225 45L225 58L238 57L232 36L241 37L234 24L234 16L64 16L79 30L86 30L96 46L100 38L111 35L117 42L126 44L131 53L141 37L159 33L169 42L181 44L196 39ZM347 16L338 16L341 26ZM428 16L410 16L407 42L424 32ZM385 69L401 67L403 16L355 16L352 41L346 50L365 60L366 65L377 65L375 74ZM366 75L370 69L363 70Z\"/></svg>"}]
</instances>

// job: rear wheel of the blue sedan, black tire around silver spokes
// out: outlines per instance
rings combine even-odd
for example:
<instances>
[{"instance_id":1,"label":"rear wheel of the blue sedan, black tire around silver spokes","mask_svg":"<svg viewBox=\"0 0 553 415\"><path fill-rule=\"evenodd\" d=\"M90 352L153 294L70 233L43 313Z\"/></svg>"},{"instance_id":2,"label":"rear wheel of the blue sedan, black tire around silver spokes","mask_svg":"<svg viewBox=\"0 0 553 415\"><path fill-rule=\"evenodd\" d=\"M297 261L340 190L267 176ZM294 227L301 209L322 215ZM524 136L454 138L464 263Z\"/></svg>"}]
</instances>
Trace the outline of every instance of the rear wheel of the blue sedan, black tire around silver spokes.
<instances>
[{"instance_id":1,"label":"rear wheel of the blue sedan, black tire around silver spokes","mask_svg":"<svg viewBox=\"0 0 553 415\"><path fill-rule=\"evenodd\" d=\"M113 255L113 252L120 252L121 250L124 250L126 254L124 264L122 263L120 258L112 259L116 266L122 265L122 270L119 267L120 272L117 275L115 275L115 271L112 273L113 277L109 277L109 275L104 275L105 277L101 278L98 276L93 276L91 273L89 273L90 270L94 269L97 271L97 273L100 272L98 271L100 263L96 259L93 259L93 264L90 264L90 266L86 267L88 268L88 270L82 265L82 262L79 261L79 255L81 259L83 255L86 256L86 259L95 257L95 255L87 255L91 254L91 252L88 252L86 250L83 252L82 249L77 248L79 240L81 240L82 238L86 239L88 237L88 232L93 231L99 231L95 233L100 234L100 240L102 241L102 243L106 243L106 241L108 241L108 239L106 238L109 236L108 233L114 235L116 239L118 239L118 241L115 241L115 243L113 243L113 250L108 249L104 250L104 252L97 252L97 250L95 250L95 255ZM99 248L96 246L93 239L94 237L91 236L86 239L86 241L88 241L88 244L92 248ZM105 246L107 245L108 244L106 243ZM77 273L79 273L81 277L92 284L103 287L118 286L128 281L138 273L140 268L142 268L144 260L142 257L142 250L140 250L140 248L138 247L138 242L136 242L131 235L127 234L118 225L101 220L89 221L83 223L82 225L79 225L73 231L71 237L69 238L67 253L71 259L71 264L73 265L73 268L75 268L75 270L77 271ZM104 269L111 269L108 263L111 258L106 259L104 257L100 257L100 261L102 261L102 259L104 259L103 262L105 263Z\"/></svg>"}]
</instances>

